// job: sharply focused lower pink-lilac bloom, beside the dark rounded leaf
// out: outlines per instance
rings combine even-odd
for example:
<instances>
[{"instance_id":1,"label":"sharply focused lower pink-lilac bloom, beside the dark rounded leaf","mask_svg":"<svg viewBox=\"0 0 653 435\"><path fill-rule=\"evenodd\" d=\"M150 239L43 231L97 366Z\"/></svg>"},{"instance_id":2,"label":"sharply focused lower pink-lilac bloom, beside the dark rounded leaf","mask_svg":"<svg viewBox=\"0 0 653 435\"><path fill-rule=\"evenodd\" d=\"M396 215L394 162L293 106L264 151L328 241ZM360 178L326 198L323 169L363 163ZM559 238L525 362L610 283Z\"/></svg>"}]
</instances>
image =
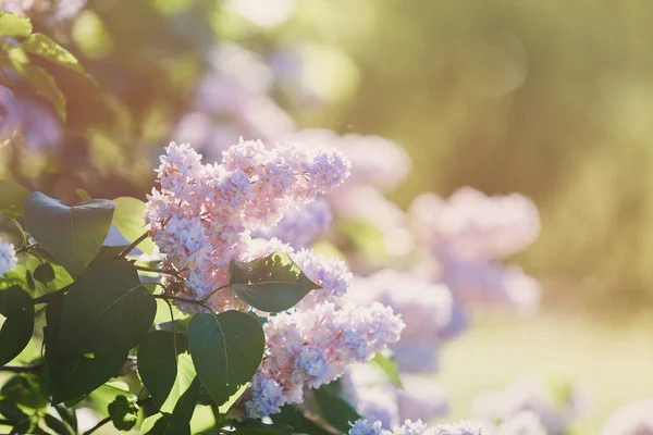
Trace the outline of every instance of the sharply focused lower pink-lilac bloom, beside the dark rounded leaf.
<instances>
[{"instance_id":1,"label":"sharply focused lower pink-lilac bloom, beside the dark rounded leaf","mask_svg":"<svg viewBox=\"0 0 653 435\"><path fill-rule=\"evenodd\" d=\"M268 353L245 402L249 417L262 418L303 400L343 375L347 365L369 361L395 343L404 324L380 303L361 308L321 303L312 310L280 313L264 324Z\"/></svg>"}]
</instances>

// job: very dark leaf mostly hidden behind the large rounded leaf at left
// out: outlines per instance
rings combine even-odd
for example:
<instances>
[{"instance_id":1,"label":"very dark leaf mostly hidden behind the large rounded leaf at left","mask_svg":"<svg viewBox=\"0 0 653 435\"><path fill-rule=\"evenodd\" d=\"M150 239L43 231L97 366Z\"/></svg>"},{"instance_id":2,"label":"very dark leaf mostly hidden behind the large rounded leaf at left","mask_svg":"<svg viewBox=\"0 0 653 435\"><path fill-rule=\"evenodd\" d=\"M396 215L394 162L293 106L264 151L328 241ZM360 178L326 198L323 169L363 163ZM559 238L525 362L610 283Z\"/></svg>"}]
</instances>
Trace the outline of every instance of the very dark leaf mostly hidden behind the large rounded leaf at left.
<instances>
[{"instance_id":1,"label":"very dark leaf mostly hidden behind the large rounded leaf at left","mask_svg":"<svg viewBox=\"0 0 653 435\"><path fill-rule=\"evenodd\" d=\"M73 402L116 375L127 359L124 352L63 355L57 349L61 303L50 302L46 308L47 326L44 328L46 345L46 374L52 393L52 403Z\"/></svg>"}]
</instances>

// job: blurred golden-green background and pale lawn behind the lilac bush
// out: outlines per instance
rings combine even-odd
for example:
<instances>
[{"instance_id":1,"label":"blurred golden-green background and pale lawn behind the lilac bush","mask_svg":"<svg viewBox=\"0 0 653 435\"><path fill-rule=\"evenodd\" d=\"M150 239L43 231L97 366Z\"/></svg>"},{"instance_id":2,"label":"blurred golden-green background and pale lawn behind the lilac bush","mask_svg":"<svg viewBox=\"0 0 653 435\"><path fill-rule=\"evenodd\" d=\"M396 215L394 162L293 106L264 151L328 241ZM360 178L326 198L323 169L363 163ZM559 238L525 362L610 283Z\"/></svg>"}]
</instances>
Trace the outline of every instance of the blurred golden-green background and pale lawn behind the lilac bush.
<instances>
[{"instance_id":1,"label":"blurred golden-green background and pale lawn behind the lilac bush","mask_svg":"<svg viewBox=\"0 0 653 435\"><path fill-rule=\"evenodd\" d=\"M2 96L0 177L67 201L78 187L145 199L172 139L219 158L239 136L275 140L296 128L382 136L412 161L387 194L404 210L421 192L471 186L519 192L540 213L539 238L510 259L539 279L540 312L481 315L444 348L435 375L451 391L444 420L469 415L476 394L520 373L590 386L578 433L653 394L653 3L60 9L54 17L33 9L47 16L35 29L54 35L88 77L48 70L65 95L65 124L37 98L19 110Z\"/></svg>"}]
</instances>

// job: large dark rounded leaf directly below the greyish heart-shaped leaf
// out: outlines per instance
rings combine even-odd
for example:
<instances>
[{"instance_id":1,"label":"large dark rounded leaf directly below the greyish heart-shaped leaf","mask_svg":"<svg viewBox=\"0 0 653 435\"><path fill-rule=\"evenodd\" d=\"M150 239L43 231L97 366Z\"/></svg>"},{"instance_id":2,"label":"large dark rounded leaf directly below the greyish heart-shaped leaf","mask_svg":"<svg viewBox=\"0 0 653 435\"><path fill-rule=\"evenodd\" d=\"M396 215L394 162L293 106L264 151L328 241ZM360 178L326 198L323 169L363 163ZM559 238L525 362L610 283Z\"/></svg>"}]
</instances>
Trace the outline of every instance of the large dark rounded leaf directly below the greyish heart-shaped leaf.
<instances>
[{"instance_id":1,"label":"large dark rounded leaf directly below the greyish heart-shaped leaf","mask_svg":"<svg viewBox=\"0 0 653 435\"><path fill-rule=\"evenodd\" d=\"M90 268L66 294L61 312L60 353L122 353L151 326L157 301L134 265L112 260Z\"/></svg>"}]
</instances>

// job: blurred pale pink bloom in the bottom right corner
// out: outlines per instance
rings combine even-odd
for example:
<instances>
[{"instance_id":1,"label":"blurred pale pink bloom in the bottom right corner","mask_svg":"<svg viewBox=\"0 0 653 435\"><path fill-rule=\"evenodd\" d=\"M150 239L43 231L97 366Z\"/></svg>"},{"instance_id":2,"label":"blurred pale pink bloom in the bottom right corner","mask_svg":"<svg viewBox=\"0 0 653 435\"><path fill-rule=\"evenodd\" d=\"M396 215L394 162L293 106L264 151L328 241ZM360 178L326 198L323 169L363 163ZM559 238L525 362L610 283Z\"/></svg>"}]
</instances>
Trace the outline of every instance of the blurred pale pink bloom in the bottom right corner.
<instances>
[{"instance_id":1,"label":"blurred pale pink bloom in the bottom right corner","mask_svg":"<svg viewBox=\"0 0 653 435\"><path fill-rule=\"evenodd\" d=\"M638 400L617 410L600 435L653 435L653 399Z\"/></svg>"}]
</instances>

